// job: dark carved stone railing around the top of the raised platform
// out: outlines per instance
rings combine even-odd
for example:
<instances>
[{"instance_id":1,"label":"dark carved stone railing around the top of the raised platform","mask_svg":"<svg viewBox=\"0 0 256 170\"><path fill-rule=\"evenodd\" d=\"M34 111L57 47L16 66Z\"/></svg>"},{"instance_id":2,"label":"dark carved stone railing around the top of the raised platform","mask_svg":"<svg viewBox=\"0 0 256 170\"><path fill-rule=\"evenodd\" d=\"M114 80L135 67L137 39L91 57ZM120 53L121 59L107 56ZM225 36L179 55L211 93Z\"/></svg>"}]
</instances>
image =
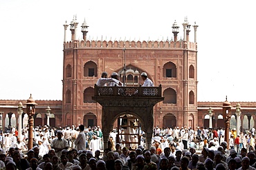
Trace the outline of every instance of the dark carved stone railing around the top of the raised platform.
<instances>
[{"instance_id":1,"label":"dark carved stone railing around the top of the raised platform","mask_svg":"<svg viewBox=\"0 0 256 170\"><path fill-rule=\"evenodd\" d=\"M94 86L94 96L162 96L162 86L158 87L124 87Z\"/></svg>"}]
</instances>

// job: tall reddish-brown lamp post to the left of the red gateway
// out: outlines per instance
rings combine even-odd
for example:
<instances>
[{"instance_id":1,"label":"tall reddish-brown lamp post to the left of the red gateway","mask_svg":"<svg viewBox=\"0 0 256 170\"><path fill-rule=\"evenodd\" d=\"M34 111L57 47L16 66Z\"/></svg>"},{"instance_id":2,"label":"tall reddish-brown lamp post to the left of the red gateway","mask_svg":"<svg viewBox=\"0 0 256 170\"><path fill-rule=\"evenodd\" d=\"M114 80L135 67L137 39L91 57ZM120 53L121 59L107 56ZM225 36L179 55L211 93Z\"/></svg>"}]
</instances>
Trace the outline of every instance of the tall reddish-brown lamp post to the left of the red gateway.
<instances>
[{"instance_id":1,"label":"tall reddish-brown lamp post to the left of the red gateway","mask_svg":"<svg viewBox=\"0 0 256 170\"><path fill-rule=\"evenodd\" d=\"M35 115L35 100L32 98L30 94L30 98L28 98L26 106L27 106L27 114L28 114L28 150L33 148L33 126L34 126L34 118Z\"/></svg>"}]
</instances>

